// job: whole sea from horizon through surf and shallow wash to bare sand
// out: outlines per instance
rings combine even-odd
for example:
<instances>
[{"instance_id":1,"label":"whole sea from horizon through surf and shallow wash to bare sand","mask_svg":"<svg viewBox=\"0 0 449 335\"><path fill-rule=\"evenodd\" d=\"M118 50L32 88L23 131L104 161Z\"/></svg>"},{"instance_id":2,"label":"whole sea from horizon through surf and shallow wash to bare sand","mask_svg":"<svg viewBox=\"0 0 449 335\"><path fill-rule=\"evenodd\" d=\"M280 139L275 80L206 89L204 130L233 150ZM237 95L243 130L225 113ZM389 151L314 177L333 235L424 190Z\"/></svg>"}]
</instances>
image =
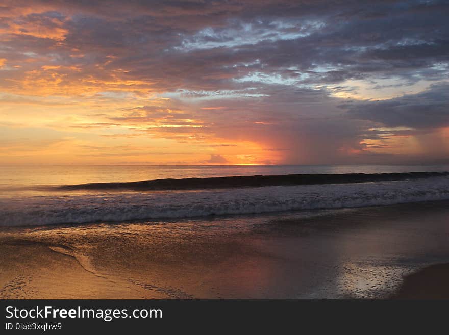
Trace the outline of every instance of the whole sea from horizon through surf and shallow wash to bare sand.
<instances>
[{"instance_id":1,"label":"whole sea from horizon through surf and shallow wash to bare sand","mask_svg":"<svg viewBox=\"0 0 449 335\"><path fill-rule=\"evenodd\" d=\"M449 166L0 171L0 298L385 298L449 262Z\"/></svg>"}]
</instances>

